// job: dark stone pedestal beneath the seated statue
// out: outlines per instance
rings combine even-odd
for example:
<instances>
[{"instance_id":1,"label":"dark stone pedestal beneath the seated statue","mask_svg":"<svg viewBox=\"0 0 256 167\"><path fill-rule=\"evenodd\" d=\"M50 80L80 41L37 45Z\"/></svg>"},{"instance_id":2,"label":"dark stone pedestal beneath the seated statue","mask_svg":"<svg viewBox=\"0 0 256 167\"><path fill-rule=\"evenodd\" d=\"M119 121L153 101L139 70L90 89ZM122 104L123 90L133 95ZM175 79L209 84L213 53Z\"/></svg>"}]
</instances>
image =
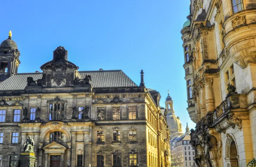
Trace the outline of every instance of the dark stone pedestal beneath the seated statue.
<instances>
[{"instance_id":1,"label":"dark stone pedestal beneath the seated statue","mask_svg":"<svg viewBox=\"0 0 256 167\"><path fill-rule=\"evenodd\" d=\"M36 167L35 153L32 152L20 152L19 167Z\"/></svg>"}]
</instances>

